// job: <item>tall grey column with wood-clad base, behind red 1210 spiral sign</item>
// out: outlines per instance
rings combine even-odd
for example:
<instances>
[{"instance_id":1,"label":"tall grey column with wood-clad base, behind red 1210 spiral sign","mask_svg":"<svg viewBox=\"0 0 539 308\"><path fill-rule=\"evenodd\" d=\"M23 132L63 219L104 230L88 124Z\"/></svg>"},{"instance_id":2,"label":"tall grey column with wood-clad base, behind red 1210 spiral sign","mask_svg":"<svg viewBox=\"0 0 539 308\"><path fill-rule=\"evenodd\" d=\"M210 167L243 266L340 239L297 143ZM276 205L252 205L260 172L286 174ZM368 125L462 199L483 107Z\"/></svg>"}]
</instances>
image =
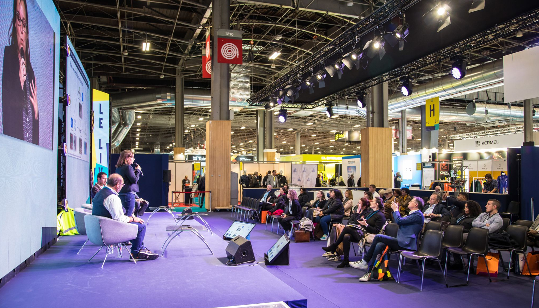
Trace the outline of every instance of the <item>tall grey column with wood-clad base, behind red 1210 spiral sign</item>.
<instances>
[{"instance_id":1,"label":"tall grey column with wood-clad base, behind red 1210 spiral sign","mask_svg":"<svg viewBox=\"0 0 539 308\"><path fill-rule=\"evenodd\" d=\"M206 209L230 208L230 145L229 65L217 63L217 30L230 29L230 0L213 2L213 70L211 74L211 120L206 122Z\"/></svg>"}]
</instances>

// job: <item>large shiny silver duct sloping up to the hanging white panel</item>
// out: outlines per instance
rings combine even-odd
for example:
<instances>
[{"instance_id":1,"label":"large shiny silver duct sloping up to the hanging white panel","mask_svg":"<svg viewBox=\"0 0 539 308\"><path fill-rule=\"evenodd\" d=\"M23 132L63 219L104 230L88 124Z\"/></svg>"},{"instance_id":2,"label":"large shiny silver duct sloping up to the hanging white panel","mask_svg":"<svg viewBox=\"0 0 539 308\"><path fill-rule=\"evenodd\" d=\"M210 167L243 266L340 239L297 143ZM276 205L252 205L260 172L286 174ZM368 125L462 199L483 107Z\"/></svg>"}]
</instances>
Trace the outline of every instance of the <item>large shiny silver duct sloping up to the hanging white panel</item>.
<instances>
[{"instance_id":1,"label":"large shiny silver duct sloping up to the hanging white panel","mask_svg":"<svg viewBox=\"0 0 539 308\"><path fill-rule=\"evenodd\" d=\"M425 100L440 97L440 100L487 90L503 84L503 60L497 60L469 69L466 76L454 79L451 75L435 79L413 88L413 93L403 97L391 95L389 112L401 111L425 105Z\"/></svg>"}]
</instances>

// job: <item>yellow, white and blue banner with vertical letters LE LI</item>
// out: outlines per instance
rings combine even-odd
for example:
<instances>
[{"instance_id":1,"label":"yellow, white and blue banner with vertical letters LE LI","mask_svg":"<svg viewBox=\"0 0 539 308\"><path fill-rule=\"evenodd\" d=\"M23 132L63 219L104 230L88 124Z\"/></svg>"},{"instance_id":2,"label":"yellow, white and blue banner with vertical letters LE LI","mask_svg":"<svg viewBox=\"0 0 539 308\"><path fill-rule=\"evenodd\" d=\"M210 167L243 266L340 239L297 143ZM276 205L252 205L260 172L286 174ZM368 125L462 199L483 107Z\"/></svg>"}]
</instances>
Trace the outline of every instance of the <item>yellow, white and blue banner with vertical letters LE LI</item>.
<instances>
[{"instance_id":1,"label":"yellow, white and blue banner with vertical letters LE LI","mask_svg":"<svg viewBox=\"0 0 539 308\"><path fill-rule=\"evenodd\" d=\"M109 95L92 89L92 173L97 182L100 172L108 176L109 149Z\"/></svg>"}]
</instances>

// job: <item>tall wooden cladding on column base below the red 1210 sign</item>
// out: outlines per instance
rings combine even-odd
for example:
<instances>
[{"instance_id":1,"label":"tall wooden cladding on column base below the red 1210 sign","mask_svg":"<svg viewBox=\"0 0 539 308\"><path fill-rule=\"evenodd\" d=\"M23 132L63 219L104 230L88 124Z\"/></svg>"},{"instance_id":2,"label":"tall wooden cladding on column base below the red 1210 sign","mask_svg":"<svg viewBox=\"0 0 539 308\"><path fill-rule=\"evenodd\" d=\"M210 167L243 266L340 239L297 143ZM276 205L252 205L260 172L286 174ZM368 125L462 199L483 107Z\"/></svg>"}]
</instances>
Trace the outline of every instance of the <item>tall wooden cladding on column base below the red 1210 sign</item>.
<instances>
[{"instance_id":1,"label":"tall wooden cladding on column base below the red 1210 sign","mask_svg":"<svg viewBox=\"0 0 539 308\"><path fill-rule=\"evenodd\" d=\"M211 209L227 209L230 204L230 145L232 122L206 122L206 190L211 190ZM206 194L206 209L210 196Z\"/></svg>"}]
</instances>

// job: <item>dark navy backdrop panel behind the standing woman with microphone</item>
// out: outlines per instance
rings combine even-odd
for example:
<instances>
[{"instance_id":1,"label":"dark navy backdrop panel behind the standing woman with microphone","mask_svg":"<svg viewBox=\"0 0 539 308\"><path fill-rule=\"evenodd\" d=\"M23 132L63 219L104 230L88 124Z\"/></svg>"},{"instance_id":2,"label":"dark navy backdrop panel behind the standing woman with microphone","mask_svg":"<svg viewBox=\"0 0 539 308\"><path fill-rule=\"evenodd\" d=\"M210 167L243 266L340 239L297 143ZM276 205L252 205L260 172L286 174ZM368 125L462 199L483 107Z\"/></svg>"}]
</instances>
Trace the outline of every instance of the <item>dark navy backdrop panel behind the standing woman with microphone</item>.
<instances>
[{"instance_id":1,"label":"dark navy backdrop panel behind the standing woman with microphone","mask_svg":"<svg viewBox=\"0 0 539 308\"><path fill-rule=\"evenodd\" d=\"M120 154L110 154L109 170L116 170ZM139 197L150 202L150 207L167 205L168 183L163 182L163 170L168 170L167 154L136 154L135 162L142 168Z\"/></svg>"}]
</instances>

